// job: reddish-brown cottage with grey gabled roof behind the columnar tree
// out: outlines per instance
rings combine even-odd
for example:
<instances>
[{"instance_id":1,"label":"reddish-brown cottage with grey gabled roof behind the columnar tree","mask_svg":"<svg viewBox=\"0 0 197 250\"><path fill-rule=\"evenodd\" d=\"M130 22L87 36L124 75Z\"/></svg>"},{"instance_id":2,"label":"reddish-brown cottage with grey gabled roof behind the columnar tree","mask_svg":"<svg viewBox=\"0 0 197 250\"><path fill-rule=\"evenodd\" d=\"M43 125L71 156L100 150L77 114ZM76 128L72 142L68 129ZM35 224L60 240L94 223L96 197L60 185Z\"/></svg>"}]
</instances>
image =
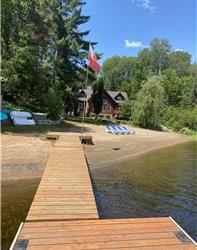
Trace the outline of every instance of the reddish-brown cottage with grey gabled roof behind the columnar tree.
<instances>
[{"instance_id":1,"label":"reddish-brown cottage with grey gabled roof behind the columnar tree","mask_svg":"<svg viewBox=\"0 0 197 250\"><path fill-rule=\"evenodd\" d=\"M92 88L81 89L78 93L78 110L77 114L82 116L85 107L85 116L93 115ZM103 97L103 107L99 117L114 118L118 115L120 105L128 99L126 92L105 91Z\"/></svg>"}]
</instances>

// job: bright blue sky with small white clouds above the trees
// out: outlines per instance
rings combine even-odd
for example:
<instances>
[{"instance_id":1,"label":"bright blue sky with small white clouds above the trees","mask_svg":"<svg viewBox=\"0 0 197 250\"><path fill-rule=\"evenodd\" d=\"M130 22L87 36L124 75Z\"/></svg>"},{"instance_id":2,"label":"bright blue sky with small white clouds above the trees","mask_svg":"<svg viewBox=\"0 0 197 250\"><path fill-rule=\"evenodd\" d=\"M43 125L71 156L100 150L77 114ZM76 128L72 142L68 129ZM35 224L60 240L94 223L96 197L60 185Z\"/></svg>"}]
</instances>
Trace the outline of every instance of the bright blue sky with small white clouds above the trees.
<instances>
[{"instance_id":1,"label":"bright blue sky with small white clouds above the trees","mask_svg":"<svg viewBox=\"0 0 197 250\"><path fill-rule=\"evenodd\" d=\"M87 0L83 14L91 16L81 28L98 42L101 63L113 55L136 56L155 37L197 58L196 0Z\"/></svg>"}]
</instances>

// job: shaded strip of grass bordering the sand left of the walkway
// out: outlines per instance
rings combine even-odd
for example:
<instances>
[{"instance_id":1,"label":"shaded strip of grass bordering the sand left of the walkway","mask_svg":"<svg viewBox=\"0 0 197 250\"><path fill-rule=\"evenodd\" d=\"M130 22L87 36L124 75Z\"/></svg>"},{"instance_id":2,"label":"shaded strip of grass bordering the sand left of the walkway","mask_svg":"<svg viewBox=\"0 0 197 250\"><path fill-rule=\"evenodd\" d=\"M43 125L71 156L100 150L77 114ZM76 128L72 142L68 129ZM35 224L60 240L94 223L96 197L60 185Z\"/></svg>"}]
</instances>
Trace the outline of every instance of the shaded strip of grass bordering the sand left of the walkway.
<instances>
[{"instance_id":1,"label":"shaded strip of grass bordering the sand left of the walkway","mask_svg":"<svg viewBox=\"0 0 197 250\"><path fill-rule=\"evenodd\" d=\"M29 134L29 133L47 133L50 131L68 132L73 125L67 121L63 121L58 125L36 125L36 126L13 126L3 125L1 127L2 134Z\"/></svg>"}]
</instances>

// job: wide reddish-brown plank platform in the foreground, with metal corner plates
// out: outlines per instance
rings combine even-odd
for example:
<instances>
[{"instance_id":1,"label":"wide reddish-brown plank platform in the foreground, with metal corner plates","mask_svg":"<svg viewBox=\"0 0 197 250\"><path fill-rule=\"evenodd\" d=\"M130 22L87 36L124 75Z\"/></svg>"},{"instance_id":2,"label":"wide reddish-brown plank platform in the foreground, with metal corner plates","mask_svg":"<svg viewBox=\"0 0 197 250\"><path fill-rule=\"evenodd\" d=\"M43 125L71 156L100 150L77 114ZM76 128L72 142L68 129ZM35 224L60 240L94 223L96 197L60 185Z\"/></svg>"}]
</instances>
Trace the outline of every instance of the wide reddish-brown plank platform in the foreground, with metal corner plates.
<instances>
[{"instance_id":1,"label":"wide reddish-brown plank platform in the foreground, with metal corner plates","mask_svg":"<svg viewBox=\"0 0 197 250\"><path fill-rule=\"evenodd\" d=\"M26 222L19 239L28 239L27 249L138 249L193 250L190 241L175 235L180 229L168 217Z\"/></svg>"}]
</instances>

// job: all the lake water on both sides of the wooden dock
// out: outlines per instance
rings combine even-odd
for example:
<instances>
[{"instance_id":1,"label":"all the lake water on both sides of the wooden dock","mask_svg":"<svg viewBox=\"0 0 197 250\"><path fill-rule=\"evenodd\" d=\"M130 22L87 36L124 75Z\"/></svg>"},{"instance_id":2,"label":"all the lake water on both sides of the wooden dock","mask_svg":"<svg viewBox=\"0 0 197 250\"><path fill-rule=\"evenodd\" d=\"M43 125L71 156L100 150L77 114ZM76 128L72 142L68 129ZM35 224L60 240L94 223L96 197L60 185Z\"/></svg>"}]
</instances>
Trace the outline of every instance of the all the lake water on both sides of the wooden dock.
<instances>
[{"instance_id":1,"label":"all the lake water on both sides of the wooden dock","mask_svg":"<svg viewBox=\"0 0 197 250\"><path fill-rule=\"evenodd\" d=\"M196 142L91 170L101 218L173 217L197 240ZM2 183L2 250L25 220L39 179Z\"/></svg>"}]
</instances>

